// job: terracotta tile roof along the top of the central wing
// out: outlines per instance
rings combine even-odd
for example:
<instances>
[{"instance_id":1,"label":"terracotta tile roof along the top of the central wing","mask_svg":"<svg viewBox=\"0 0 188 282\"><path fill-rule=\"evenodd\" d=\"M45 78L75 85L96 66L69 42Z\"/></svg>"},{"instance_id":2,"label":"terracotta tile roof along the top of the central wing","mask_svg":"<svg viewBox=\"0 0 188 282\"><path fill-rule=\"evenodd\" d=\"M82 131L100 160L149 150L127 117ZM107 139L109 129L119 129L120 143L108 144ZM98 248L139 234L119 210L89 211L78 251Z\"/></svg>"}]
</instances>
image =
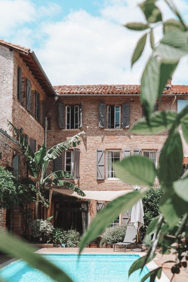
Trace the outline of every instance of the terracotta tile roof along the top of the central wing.
<instances>
[{"instance_id":1,"label":"terracotta tile roof along the top of the central wing","mask_svg":"<svg viewBox=\"0 0 188 282\"><path fill-rule=\"evenodd\" d=\"M59 85L54 86L58 94L140 94L140 85ZM188 94L188 85L167 86L163 94Z\"/></svg>"}]
</instances>

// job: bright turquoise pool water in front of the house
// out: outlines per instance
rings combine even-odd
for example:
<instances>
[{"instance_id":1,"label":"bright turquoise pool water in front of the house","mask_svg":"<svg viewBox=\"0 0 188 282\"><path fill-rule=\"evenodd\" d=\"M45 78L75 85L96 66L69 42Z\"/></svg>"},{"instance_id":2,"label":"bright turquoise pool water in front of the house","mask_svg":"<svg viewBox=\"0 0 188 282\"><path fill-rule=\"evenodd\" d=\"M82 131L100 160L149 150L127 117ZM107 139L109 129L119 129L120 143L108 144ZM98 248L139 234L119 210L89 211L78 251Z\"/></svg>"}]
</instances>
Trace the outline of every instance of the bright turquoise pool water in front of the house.
<instances>
[{"instance_id":1,"label":"bright turquoise pool water in front of the house","mask_svg":"<svg viewBox=\"0 0 188 282\"><path fill-rule=\"evenodd\" d=\"M128 279L131 264L139 258L128 254L45 254L44 257L63 269L74 282L139 282L149 271L147 267L140 274L135 271ZM48 276L18 260L0 271L8 282L50 282ZM147 282L149 279L146 280Z\"/></svg>"}]
</instances>

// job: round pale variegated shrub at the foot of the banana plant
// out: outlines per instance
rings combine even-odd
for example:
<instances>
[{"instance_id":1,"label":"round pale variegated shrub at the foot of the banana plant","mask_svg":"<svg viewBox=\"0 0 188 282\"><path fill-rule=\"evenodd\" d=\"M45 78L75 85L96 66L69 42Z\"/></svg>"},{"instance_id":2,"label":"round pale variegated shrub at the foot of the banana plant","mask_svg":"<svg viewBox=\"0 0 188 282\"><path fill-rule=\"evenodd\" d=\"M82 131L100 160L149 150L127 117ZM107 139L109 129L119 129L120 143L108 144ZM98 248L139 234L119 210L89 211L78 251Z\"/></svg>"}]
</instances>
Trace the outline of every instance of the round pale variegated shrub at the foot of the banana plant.
<instances>
[{"instance_id":1,"label":"round pale variegated shrub at the foot of the banana plant","mask_svg":"<svg viewBox=\"0 0 188 282\"><path fill-rule=\"evenodd\" d=\"M54 227L49 220L35 219L29 222L30 235L33 236L36 241L42 238L43 242L45 242L51 235L53 229Z\"/></svg>"}]
</instances>

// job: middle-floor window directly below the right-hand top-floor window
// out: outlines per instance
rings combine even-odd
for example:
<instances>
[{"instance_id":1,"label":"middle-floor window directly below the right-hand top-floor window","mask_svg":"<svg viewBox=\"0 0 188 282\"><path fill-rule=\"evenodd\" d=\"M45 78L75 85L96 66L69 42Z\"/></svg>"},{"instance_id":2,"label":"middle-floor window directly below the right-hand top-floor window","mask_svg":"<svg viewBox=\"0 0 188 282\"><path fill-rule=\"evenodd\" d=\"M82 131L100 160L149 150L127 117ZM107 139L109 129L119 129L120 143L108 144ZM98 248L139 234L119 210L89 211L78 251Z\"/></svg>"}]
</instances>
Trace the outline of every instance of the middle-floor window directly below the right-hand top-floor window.
<instances>
[{"instance_id":1,"label":"middle-floor window directly below the right-hand top-floor window","mask_svg":"<svg viewBox=\"0 0 188 282\"><path fill-rule=\"evenodd\" d=\"M114 163L120 161L120 151L107 151L107 178L116 178Z\"/></svg>"}]
</instances>

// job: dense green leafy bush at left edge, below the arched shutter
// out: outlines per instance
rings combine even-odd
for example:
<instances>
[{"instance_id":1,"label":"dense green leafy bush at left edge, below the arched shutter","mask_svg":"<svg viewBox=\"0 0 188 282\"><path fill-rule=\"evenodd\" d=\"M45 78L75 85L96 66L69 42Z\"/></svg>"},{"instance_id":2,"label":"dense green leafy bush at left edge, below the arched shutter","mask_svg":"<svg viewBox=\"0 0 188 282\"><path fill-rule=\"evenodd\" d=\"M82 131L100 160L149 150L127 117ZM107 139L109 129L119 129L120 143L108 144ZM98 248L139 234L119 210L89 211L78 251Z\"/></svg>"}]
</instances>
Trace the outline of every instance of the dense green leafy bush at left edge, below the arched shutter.
<instances>
[{"instance_id":1,"label":"dense green leafy bush at left edge, below the arched shutter","mask_svg":"<svg viewBox=\"0 0 188 282\"><path fill-rule=\"evenodd\" d=\"M0 209L9 209L36 200L36 188L32 182L25 183L17 180L12 172L0 166Z\"/></svg>"}]
</instances>

